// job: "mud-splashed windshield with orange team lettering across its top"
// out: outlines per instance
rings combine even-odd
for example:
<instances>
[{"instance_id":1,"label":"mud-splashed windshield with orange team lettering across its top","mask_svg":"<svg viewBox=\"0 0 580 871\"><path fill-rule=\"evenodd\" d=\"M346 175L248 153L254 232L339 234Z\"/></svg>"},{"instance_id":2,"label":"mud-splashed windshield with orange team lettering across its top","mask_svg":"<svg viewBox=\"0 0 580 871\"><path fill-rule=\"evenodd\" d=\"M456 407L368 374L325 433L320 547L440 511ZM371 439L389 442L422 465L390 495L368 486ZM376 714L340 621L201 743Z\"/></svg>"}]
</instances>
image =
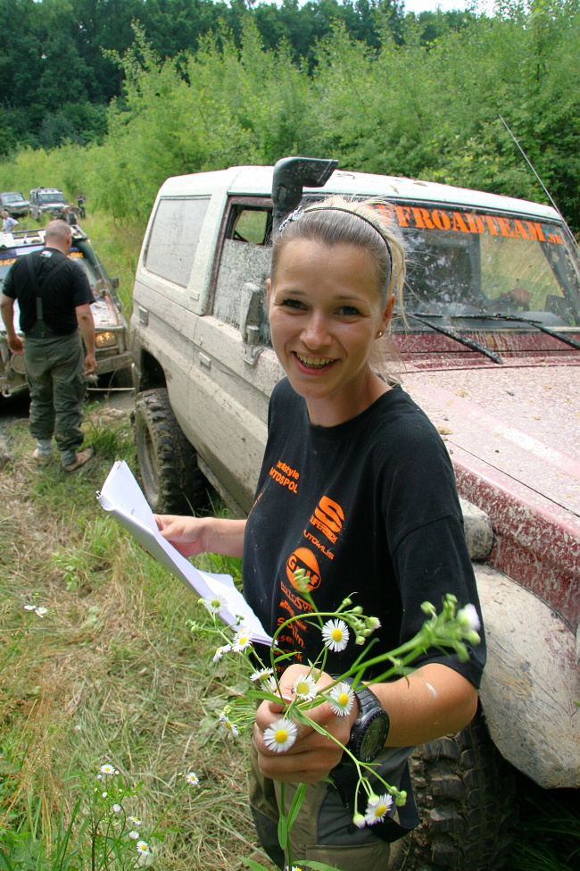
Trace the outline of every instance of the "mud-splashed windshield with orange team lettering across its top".
<instances>
[{"instance_id":1,"label":"mud-splashed windshield with orange team lettering across its top","mask_svg":"<svg viewBox=\"0 0 580 871\"><path fill-rule=\"evenodd\" d=\"M563 224L425 204L382 208L406 242L408 313L580 324L579 264Z\"/></svg>"}]
</instances>

